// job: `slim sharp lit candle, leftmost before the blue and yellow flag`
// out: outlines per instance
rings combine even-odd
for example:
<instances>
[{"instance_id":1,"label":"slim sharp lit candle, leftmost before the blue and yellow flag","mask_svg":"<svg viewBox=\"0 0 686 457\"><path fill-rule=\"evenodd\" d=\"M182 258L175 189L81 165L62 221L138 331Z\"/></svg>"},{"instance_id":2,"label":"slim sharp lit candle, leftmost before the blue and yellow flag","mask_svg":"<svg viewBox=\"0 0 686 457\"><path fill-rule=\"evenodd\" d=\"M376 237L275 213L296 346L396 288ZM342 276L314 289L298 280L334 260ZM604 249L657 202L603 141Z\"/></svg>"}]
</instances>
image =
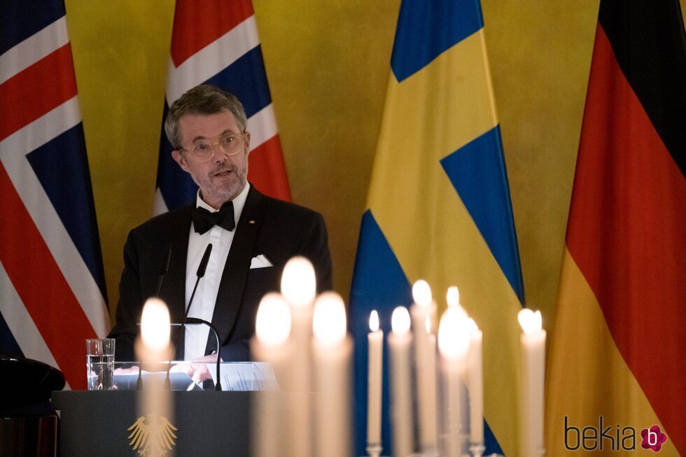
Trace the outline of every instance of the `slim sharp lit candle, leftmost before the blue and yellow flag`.
<instances>
[{"instance_id":1,"label":"slim sharp lit candle, leftmost before the blue and yellow flag","mask_svg":"<svg viewBox=\"0 0 686 457\"><path fill-rule=\"evenodd\" d=\"M384 331L379 330L379 314L369 316L367 335L367 454L381 454L381 372L384 360Z\"/></svg>"}]
</instances>

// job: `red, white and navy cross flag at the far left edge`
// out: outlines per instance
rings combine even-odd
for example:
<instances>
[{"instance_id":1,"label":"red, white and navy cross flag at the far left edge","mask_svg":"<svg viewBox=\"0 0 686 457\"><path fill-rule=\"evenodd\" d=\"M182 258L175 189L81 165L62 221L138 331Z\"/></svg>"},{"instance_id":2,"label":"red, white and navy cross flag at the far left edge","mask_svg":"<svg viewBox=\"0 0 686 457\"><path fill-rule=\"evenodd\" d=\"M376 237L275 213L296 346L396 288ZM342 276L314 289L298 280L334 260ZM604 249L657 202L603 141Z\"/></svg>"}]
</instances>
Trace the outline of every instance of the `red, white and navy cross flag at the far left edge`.
<instances>
[{"instance_id":1,"label":"red, white and navy cross flag at the far left edge","mask_svg":"<svg viewBox=\"0 0 686 457\"><path fill-rule=\"evenodd\" d=\"M83 389L109 330L62 0L0 2L0 353Z\"/></svg>"}]
</instances>

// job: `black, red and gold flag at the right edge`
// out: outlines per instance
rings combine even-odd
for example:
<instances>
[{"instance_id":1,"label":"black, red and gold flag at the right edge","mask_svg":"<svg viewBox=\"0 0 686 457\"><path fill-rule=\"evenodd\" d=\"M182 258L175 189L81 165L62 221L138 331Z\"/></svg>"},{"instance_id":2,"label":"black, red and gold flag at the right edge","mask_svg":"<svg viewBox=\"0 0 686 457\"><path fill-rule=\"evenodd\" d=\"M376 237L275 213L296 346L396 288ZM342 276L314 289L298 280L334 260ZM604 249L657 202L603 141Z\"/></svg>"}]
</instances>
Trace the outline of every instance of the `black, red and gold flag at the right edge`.
<instances>
[{"instance_id":1,"label":"black, red and gold flag at the right edge","mask_svg":"<svg viewBox=\"0 0 686 457\"><path fill-rule=\"evenodd\" d=\"M650 447L652 426L662 455L686 455L685 156L679 1L602 0L549 358L550 456Z\"/></svg>"}]
</instances>

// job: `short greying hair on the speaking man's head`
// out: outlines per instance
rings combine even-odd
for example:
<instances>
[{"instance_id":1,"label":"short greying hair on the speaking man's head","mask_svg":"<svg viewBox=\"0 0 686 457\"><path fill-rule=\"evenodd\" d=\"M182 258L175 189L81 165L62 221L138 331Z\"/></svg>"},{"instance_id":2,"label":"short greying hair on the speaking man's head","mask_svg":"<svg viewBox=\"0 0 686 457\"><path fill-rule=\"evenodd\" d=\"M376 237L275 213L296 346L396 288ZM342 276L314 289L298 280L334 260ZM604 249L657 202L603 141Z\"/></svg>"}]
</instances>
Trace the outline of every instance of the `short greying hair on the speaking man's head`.
<instances>
[{"instance_id":1,"label":"short greying hair on the speaking man's head","mask_svg":"<svg viewBox=\"0 0 686 457\"><path fill-rule=\"evenodd\" d=\"M236 118L241 132L245 132L248 119L241 101L234 94L230 94L219 87L209 84L201 84L189 89L181 98L169 106L167 119L165 120L165 132L169 143L174 149L181 148L181 135L179 134L179 119L184 114L216 114L229 111ZM236 132L240 133L240 132Z\"/></svg>"}]
</instances>

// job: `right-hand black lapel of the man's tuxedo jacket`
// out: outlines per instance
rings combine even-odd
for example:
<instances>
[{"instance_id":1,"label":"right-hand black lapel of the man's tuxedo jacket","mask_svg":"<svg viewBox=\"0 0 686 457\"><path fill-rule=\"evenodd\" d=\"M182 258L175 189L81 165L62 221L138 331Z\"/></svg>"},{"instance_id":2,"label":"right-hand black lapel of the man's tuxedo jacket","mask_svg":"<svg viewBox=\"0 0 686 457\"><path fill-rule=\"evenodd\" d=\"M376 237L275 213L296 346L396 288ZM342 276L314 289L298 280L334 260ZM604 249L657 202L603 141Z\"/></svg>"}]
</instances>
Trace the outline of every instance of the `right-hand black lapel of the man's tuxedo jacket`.
<instances>
[{"instance_id":1,"label":"right-hand black lapel of the man's tuxedo jacket","mask_svg":"<svg viewBox=\"0 0 686 457\"><path fill-rule=\"evenodd\" d=\"M243 301L246 276L253 258L255 241L260 232L266 206L265 197L251 186L224 265L212 316L212 324L219 332L220 342L227 341L234 330L236 317ZM218 349L215 339L210 335L206 353L211 351L218 351Z\"/></svg>"}]
</instances>

